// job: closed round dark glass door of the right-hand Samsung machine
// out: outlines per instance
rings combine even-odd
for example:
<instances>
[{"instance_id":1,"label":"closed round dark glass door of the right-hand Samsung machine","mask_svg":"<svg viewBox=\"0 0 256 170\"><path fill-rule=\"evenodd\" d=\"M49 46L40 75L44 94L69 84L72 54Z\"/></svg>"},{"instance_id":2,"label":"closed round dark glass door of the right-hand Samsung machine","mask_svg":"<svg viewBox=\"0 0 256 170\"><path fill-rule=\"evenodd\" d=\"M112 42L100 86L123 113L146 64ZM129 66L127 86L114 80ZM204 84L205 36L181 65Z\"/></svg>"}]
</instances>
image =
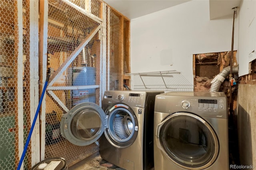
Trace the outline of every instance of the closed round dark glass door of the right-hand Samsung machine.
<instances>
[{"instance_id":1,"label":"closed round dark glass door of the right-hand Samsung machine","mask_svg":"<svg viewBox=\"0 0 256 170\"><path fill-rule=\"evenodd\" d=\"M164 152L177 165L204 169L218 156L218 139L212 127L190 113L175 113L159 125Z\"/></svg>"}]
</instances>

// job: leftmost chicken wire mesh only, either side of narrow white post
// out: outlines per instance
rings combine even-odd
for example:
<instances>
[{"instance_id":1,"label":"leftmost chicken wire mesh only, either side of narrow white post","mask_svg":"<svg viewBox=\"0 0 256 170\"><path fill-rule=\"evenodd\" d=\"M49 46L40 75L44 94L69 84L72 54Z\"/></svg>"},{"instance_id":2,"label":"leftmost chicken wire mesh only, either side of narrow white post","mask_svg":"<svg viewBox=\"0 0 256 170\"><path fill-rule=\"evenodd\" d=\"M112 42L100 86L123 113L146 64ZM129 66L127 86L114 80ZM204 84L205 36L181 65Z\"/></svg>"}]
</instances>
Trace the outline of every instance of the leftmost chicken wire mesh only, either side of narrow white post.
<instances>
[{"instance_id":1,"label":"leftmost chicken wire mesh only, either side of narrow white post","mask_svg":"<svg viewBox=\"0 0 256 170\"><path fill-rule=\"evenodd\" d=\"M23 128L24 143L30 127L30 100L18 101L18 64L23 65L23 98L30 98L30 43L29 3L22 1L22 42L18 42L17 2L0 1L0 169L15 169L18 166L19 128ZM22 47L19 46L22 45ZM18 63L18 49L23 51L23 61ZM18 102L23 103L23 127L18 126ZM24 167L31 168L31 147L24 158Z\"/></svg>"}]
</instances>

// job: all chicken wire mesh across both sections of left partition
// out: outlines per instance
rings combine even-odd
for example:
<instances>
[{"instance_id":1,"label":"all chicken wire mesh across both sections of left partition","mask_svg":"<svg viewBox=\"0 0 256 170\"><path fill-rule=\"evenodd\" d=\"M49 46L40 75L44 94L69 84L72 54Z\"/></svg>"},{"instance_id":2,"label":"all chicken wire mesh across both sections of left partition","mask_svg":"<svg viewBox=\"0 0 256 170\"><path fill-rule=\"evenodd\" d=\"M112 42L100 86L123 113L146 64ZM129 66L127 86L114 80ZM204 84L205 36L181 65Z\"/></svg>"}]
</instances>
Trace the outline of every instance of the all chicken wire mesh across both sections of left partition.
<instances>
[{"instance_id":1,"label":"all chicken wire mesh across both sections of left partition","mask_svg":"<svg viewBox=\"0 0 256 170\"><path fill-rule=\"evenodd\" d=\"M90 146L75 146L64 139L59 129L62 115L78 103L90 101L100 105L102 69L105 69L108 74L106 81L109 85L106 89L122 89L124 67L122 63L124 56L122 17L107 6L108 29L105 35L108 41L104 45L108 46L106 51L109 55L105 54L107 66L102 68L102 36L97 30L102 24L103 4L104 2L100 0L48 1L48 68L52 75L60 72L61 74L52 83L46 95L44 158L64 157L69 166L97 152L99 148L95 143ZM0 2L0 169L15 169L18 166L19 153L23 149L18 148L18 142L23 140L25 144L28 138L31 127L31 105L32 101L37 99L31 97L30 91L31 83L33 83L30 83L32 75L30 68L31 64L34 64L30 63L30 8L30 0L22 0L23 43L21 44L23 45L19 46L17 1L2 0ZM82 10L86 10L87 14L92 14L94 18L87 16ZM88 38L90 36L92 38ZM83 50L72 59L69 65L65 66L83 43L86 43ZM22 63L18 63L18 49L20 48L23 51ZM23 67L21 84L18 84L18 65ZM22 87L23 90L23 98L19 102L18 87ZM18 129L21 129L18 127L20 121L18 103L23 105L24 136L22 139L18 132ZM31 147L30 142L23 161L24 169L30 169L35 163L32 163Z\"/></svg>"}]
</instances>

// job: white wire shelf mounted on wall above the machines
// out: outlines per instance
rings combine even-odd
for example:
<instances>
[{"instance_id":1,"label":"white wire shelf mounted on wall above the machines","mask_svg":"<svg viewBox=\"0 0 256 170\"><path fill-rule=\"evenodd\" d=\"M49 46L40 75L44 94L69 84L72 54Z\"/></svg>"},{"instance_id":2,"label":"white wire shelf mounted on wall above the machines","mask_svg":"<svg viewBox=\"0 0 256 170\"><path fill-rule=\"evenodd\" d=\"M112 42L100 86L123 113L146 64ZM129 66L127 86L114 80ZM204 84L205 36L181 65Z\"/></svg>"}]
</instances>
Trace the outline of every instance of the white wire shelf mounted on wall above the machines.
<instances>
[{"instance_id":1,"label":"white wire shelf mounted on wall above the machines","mask_svg":"<svg viewBox=\"0 0 256 170\"><path fill-rule=\"evenodd\" d=\"M132 90L162 90L162 91L193 91L191 84L180 72L176 70L156 71L144 73L127 73L131 76Z\"/></svg>"}]
</instances>

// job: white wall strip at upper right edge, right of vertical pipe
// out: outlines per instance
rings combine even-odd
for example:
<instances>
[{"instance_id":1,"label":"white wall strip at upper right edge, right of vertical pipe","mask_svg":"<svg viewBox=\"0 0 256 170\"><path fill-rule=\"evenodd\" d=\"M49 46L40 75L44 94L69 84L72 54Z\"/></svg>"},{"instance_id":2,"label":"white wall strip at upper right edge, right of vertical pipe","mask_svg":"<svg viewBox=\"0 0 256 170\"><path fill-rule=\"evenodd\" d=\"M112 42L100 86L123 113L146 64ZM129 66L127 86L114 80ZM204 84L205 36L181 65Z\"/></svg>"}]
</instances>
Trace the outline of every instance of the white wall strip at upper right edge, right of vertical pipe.
<instances>
[{"instance_id":1,"label":"white wall strip at upper right edge, right of vertical pipe","mask_svg":"<svg viewBox=\"0 0 256 170\"><path fill-rule=\"evenodd\" d=\"M239 76L249 73L249 62L256 59L256 1L243 0L239 8ZM254 51L254 52L252 52Z\"/></svg>"}]
</instances>

